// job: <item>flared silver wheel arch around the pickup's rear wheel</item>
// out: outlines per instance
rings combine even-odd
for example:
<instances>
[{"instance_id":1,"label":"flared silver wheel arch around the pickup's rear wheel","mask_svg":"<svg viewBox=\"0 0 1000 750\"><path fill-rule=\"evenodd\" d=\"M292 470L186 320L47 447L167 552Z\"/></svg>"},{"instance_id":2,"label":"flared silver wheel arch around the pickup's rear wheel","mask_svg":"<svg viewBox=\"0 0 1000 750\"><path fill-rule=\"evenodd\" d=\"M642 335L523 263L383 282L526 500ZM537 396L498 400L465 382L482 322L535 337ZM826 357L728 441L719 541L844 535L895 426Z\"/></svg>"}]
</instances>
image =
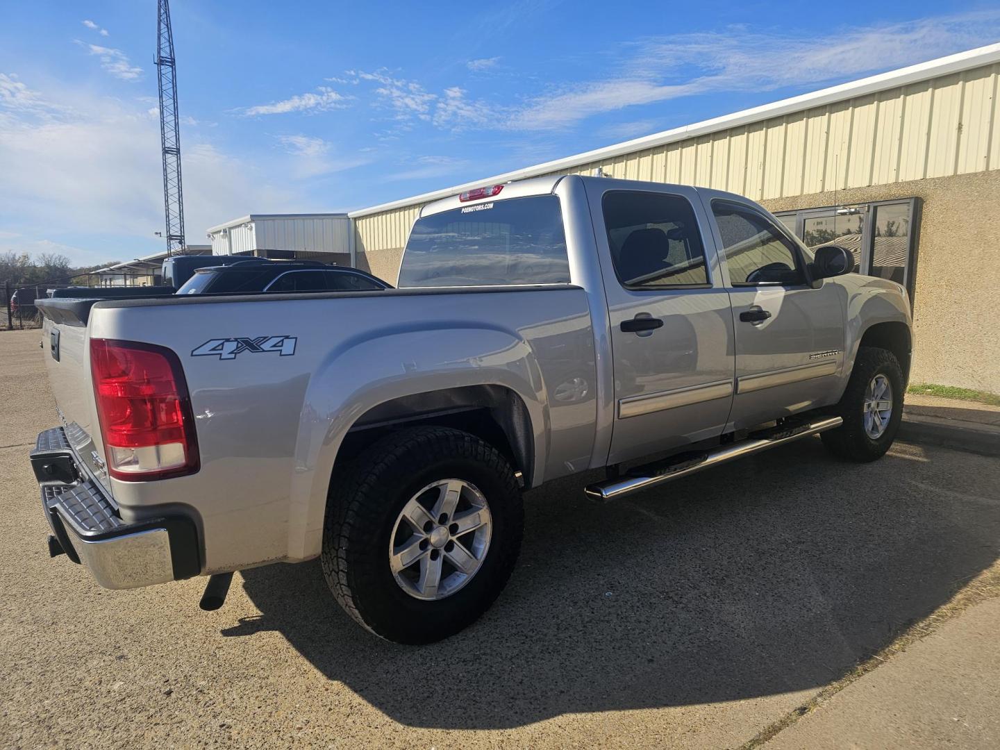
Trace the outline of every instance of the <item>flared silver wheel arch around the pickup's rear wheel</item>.
<instances>
[{"instance_id":1,"label":"flared silver wheel arch around the pickup's rear wheel","mask_svg":"<svg viewBox=\"0 0 1000 750\"><path fill-rule=\"evenodd\" d=\"M550 415L534 352L509 332L480 328L473 343L484 354L470 358L469 332L461 333L438 332L433 350L418 348L426 342L417 336L363 342L314 374L296 443L286 559L319 554L335 468L393 425L465 429L504 452L527 485L540 481Z\"/></svg>"}]
</instances>

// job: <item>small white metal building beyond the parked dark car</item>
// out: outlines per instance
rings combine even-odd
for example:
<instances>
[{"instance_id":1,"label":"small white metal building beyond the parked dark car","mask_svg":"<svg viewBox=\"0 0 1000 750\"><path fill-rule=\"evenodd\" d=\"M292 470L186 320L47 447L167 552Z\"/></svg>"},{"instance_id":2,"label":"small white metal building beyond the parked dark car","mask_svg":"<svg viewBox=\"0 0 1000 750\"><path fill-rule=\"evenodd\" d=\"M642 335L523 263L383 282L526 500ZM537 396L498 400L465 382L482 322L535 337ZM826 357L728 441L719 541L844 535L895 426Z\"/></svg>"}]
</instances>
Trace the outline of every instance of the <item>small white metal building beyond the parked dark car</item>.
<instances>
[{"instance_id":1,"label":"small white metal building beyond the parked dark car","mask_svg":"<svg viewBox=\"0 0 1000 750\"><path fill-rule=\"evenodd\" d=\"M347 214L250 214L211 227L213 255L309 258L351 263L351 221Z\"/></svg>"}]
</instances>

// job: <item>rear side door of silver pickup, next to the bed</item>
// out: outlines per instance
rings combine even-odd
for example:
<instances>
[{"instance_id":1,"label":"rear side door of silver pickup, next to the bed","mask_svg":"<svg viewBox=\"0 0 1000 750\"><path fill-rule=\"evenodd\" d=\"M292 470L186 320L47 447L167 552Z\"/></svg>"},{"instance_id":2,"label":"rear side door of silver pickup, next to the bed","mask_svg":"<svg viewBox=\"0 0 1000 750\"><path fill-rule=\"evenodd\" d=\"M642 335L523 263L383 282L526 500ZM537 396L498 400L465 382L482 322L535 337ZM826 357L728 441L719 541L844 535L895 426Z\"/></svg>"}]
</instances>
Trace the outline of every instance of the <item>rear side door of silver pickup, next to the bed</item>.
<instances>
[{"instance_id":1,"label":"rear side door of silver pickup, next to the bed","mask_svg":"<svg viewBox=\"0 0 1000 750\"><path fill-rule=\"evenodd\" d=\"M733 319L692 188L587 181L611 323L608 463L718 437L733 396Z\"/></svg>"}]
</instances>

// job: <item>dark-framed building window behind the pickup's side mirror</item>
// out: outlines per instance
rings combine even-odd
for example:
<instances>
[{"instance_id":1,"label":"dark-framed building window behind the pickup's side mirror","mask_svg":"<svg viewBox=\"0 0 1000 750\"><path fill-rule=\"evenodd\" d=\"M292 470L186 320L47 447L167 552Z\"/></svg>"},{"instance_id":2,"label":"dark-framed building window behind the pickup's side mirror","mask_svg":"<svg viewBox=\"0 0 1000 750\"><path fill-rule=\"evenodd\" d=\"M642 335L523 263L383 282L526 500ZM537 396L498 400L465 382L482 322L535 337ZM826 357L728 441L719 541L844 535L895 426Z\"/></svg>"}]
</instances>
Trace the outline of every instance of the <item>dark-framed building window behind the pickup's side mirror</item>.
<instances>
[{"instance_id":1,"label":"dark-framed building window behind the pickup's side mirror","mask_svg":"<svg viewBox=\"0 0 1000 750\"><path fill-rule=\"evenodd\" d=\"M854 255L858 273L891 279L912 296L919 211L919 198L903 198L775 215L810 248L841 245Z\"/></svg>"}]
</instances>

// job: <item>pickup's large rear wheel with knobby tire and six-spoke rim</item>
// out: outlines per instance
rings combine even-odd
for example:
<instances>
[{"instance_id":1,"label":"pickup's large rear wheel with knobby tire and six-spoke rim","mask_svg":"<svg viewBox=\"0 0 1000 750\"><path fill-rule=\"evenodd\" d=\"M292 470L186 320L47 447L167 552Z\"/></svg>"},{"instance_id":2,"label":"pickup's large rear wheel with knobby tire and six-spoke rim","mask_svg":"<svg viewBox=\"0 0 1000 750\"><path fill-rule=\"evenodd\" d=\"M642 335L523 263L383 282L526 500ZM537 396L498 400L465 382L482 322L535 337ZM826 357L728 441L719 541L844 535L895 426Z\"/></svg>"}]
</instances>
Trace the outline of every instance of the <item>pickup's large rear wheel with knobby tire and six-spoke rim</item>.
<instances>
[{"instance_id":1,"label":"pickup's large rear wheel with knobby tire and six-spoke rim","mask_svg":"<svg viewBox=\"0 0 1000 750\"><path fill-rule=\"evenodd\" d=\"M514 471L460 430L387 435L338 472L327 502L327 584L351 617L397 643L432 643L473 623L520 551Z\"/></svg>"}]
</instances>

